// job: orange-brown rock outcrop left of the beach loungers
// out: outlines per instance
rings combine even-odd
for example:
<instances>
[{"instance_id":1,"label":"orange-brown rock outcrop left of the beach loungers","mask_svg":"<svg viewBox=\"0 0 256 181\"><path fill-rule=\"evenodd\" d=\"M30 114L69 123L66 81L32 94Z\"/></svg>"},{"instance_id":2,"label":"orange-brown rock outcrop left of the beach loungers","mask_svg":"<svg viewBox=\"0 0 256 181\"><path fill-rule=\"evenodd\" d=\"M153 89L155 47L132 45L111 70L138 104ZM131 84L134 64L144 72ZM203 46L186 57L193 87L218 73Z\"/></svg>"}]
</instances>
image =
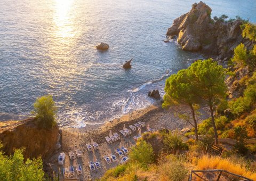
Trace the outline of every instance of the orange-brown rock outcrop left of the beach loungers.
<instances>
[{"instance_id":1,"label":"orange-brown rock outcrop left of the beach loungers","mask_svg":"<svg viewBox=\"0 0 256 181\"><path fill-rule=\"evenodd\" d=\"M41 129L35 124L34 118L23 121L0 122L0 142L3 143L3 151L13 154L13 149L25 147L25 158L34 158L39 155L47 158L53 153L59 139L59 129Z\"/></svg>"}]
</instances>

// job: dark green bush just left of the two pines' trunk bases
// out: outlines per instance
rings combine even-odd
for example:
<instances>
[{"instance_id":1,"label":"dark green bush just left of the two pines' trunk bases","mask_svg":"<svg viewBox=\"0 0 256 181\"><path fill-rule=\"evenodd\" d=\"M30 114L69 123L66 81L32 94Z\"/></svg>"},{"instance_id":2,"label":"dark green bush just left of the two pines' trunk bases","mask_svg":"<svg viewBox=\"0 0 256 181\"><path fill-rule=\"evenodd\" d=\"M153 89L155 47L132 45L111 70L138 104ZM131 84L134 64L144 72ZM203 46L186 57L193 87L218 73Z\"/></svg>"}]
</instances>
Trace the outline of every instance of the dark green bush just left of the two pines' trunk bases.
<instances>
[{"instance_id":1,"label":"dark green bush just left of the two pines' trunk bases","mask_svg":"<svg viewBox=\"0 0 256 181\"><path fill-rule=\"evenodd\" d=\"M180 150L187 150L188 145L183 142L181 135L178 131L174 133L168 133L164 135L163 139L164 146L167 150L172 151L173 153L177 153Z\"/></svg>"}]
</instances>

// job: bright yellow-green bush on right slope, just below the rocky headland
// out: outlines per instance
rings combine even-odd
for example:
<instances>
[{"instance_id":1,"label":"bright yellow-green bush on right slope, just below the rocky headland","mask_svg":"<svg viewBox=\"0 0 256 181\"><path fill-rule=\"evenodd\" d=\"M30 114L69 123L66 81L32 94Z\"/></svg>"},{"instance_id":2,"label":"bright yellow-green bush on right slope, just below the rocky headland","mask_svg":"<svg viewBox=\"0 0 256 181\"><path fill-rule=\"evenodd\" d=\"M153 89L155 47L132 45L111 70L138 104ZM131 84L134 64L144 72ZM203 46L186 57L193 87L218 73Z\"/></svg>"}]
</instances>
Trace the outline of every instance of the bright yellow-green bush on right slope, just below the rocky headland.
<instances>
[{"instance_id":1,"label":"bright yellow-green bush on right slope, just below the rocky headland","mask_svg":"<svg viewBox=\"0 0 256 181\"><path fill-rule=\"evenodd\" d=\"M249 58L247 55L247 49L244 47L244 44L239 44L234 49L234 57L231 59L234 63L237 63L238 65L245 66L246 61Z\"/></svg>"}]
</instances>

